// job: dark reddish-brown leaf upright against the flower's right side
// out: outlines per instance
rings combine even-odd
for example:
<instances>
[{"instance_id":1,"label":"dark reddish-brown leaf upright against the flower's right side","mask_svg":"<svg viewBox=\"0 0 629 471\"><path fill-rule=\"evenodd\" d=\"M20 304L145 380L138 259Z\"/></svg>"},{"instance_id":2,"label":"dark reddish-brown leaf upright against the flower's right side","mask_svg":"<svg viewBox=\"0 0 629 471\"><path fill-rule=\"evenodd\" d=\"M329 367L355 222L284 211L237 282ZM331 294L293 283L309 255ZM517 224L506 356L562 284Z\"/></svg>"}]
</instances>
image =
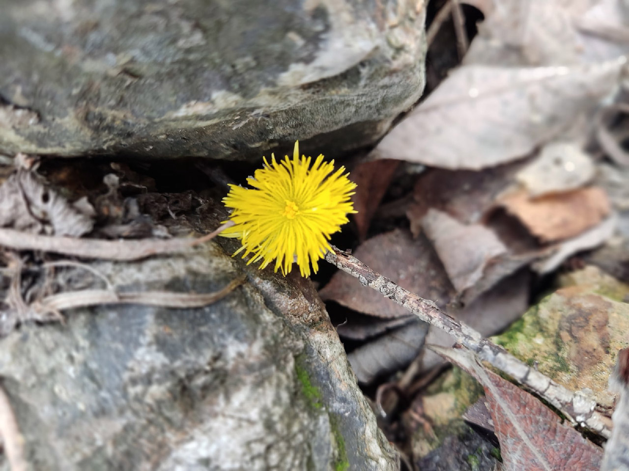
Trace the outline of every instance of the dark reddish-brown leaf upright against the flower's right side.
<instances>
[{"instance_id":1,"label":"dark reddish-brown leaf upright against the flower's right side","mask_svg":"<svg viewBox=\"0 0 629 471\"><path fill-rule=\"evenodd\" d=\"M374 160L360 163L352 170L352 181L357 185L352 202L354 209L358 211L353 215L353 219L356 222L360 241L364 241L367 237L371 219L398 165L399 160Z\"/></svg>"}]
</instances>

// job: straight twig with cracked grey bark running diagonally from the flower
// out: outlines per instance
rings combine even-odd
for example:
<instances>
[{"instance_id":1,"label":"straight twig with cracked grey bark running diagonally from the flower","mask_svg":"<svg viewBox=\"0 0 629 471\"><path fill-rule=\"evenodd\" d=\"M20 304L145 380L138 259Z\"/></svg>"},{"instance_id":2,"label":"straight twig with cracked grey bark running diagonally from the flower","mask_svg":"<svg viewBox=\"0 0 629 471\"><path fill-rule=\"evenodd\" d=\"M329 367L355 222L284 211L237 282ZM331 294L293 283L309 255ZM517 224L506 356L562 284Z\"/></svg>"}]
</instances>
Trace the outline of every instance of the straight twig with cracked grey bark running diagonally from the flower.
<instances>
[{"instance_id":1,"label":"straight twig with cracked grey bark running diagonally from the flower","mask_svg":"<svg viewBox=\"0 0 629 471\"><path fill-rule=\"evenodd\" d=\"M606 438L610 436L608 421L595 409L596 401L557 384L513 357L503 347L483 338L473 328L443 313L433 301L420 298L376 273L357 258L340 251L337 247L332 248L333 251L325 256L326 261L358 278L362 285L369 286L408 309L424 322L449 333L457 343L474 352L479 359L506 372L520 384L524 384L546 399L564 413L573 425L585 426Z\"/></svg>"}]
</instances>

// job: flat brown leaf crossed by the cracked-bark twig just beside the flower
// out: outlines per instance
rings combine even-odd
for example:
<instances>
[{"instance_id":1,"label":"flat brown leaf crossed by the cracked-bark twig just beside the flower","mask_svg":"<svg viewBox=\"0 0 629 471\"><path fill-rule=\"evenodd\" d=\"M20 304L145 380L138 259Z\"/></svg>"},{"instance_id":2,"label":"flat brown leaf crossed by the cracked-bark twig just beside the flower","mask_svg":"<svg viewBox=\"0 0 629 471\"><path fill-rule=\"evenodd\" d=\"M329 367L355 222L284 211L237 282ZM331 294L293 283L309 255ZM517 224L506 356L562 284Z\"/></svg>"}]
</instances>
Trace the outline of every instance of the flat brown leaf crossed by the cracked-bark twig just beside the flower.
<instances>
[{"instance_id":1,"label":"flat brown leaf crossed by the cracked-bark twig just beside the flower","mask_svg":"<svg viewBox=\"0 0 629 471\"><path fill-rule=\"evenodd\" d=\"M435 301L443 308L454 288L437 254L425 237L413 240L405 230L392 230L367 239L354 256L403 288ZM323 300L336 301L355 311L376 317L406 317L408 311L394 301L368 290L350 274L338 271L319 292Z\"/></svg>"}]
</instances>

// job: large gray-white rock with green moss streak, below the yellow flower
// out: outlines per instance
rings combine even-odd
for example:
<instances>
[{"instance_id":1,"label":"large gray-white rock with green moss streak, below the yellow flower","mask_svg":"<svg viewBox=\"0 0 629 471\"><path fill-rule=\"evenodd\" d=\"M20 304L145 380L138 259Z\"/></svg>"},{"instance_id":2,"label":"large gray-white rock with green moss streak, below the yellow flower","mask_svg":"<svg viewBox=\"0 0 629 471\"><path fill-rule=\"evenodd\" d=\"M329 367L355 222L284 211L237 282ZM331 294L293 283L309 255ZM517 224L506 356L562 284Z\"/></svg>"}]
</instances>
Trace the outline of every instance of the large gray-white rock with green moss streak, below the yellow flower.
<instances>
[{"instance_id":1,"label":"large gray-white rock with green moss streak, below the yellow flower","mask_svg":"<svg viewBox=\"0 0 629 471\"><path fill-rule=\"evenodd\" d=\"M1 339L32 470L399 469L309 280L245 267L214 242L91 266L118 290L248 278L202 309L77 309Z\"/></svg>"}]
</instances>

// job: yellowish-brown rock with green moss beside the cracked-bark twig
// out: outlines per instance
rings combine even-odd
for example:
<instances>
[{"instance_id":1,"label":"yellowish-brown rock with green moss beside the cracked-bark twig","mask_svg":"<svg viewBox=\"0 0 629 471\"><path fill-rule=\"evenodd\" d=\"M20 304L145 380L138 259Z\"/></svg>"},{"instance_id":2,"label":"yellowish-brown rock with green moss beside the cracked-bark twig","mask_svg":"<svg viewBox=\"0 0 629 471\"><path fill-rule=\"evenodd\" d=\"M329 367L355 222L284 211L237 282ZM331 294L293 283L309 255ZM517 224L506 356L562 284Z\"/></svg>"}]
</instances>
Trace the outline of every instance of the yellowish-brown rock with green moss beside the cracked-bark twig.
<instances>
[{"instance_id":1,"label":"yellowish-brown rock with green moss beside the cracked-bark twig","mask_svg":"<svg viewBox=\"0 0 629 471\"><path fill-rule=\"evenodd\" d=\"M560 279L562 287L528 310L494 342L571 391L613 406L608 379L629 346L629 286L598 268Z\"/></svg>"}]
</instances>

